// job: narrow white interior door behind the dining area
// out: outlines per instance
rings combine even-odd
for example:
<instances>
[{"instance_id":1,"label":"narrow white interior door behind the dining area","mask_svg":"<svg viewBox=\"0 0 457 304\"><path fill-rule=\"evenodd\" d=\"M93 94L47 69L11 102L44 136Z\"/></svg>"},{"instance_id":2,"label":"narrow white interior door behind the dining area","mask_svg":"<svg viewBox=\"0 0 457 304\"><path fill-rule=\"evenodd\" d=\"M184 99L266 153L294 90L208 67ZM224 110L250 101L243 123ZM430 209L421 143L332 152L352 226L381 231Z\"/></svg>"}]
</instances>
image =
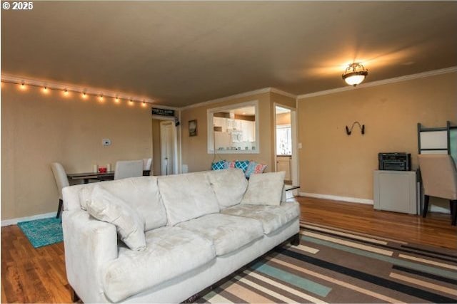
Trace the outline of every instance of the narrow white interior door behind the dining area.
<instances>
[{"instance_id":1,"label":"narrow white interior door behind the dining area","mask_svg":"<svg viewBox=\"0 0 457 304\"><path fill-rule=\"evenodd\" d=\"M174 174L176 169L176 135L172 121L160 123L161 175Z\"/></svg>"}]
</instances>

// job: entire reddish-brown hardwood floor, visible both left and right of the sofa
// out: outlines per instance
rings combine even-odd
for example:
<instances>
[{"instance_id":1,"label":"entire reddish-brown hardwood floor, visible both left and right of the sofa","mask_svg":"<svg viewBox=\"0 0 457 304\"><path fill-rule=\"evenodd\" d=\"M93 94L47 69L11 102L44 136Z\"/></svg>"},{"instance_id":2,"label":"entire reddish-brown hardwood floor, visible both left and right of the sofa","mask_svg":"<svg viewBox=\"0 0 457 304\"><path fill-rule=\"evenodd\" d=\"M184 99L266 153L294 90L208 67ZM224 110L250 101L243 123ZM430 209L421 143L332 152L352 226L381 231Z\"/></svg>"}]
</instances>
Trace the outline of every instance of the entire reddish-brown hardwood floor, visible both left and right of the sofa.
<instances>
[{"instance_id":1,"label":"entire reddish-brown hardwood floor, visible both left and right of the sofa","mask_svg":"<svg viewBox=\"0 0 457 304\"><path fill-rule=\"evenodd\" d=\"M448 214L421 216L374 211L373 206L296 198L301 219L314 224L457 249ZM69 303L64 243L33 248L18 226L1 227L1 303Z\"/></svg>"}]
</instances>

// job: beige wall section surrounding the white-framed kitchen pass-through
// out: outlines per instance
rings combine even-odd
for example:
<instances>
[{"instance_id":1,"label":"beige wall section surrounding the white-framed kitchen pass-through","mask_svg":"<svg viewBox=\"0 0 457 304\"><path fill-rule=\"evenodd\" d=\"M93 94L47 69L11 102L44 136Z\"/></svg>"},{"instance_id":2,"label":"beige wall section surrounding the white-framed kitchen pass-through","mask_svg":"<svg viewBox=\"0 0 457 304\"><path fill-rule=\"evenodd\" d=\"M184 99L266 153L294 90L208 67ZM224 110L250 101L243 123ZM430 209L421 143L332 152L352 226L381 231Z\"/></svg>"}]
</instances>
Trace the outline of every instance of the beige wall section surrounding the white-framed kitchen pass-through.
<instances>
[{"instance_id":1,"label":"beige wall section surrounding the white-framed kitchen pass-through","mask_svg":"<svg viewBox=\"0 0 457 304\"><path fill-rule=\"evenodd\" d=\"M260 129L260 153L259 154L218 154L221 159L248 159L267 164L266 171L271 171L273 150L271 150L271 125L272 110L270 93L251 95L244 98L234 98L221 103L211 103L198 108L190 108L181 111L181 132L182 132L182 164L189 166L189 172L211 169L211 162L214 154L208 154L207 145L207 120L206 110L218 108L224 105L245 103L258 100L259 129ZM189 137L189 120L197 120L197 136ZM216 157L216 160L220 158Z\"/></svg>"}]
</instances>

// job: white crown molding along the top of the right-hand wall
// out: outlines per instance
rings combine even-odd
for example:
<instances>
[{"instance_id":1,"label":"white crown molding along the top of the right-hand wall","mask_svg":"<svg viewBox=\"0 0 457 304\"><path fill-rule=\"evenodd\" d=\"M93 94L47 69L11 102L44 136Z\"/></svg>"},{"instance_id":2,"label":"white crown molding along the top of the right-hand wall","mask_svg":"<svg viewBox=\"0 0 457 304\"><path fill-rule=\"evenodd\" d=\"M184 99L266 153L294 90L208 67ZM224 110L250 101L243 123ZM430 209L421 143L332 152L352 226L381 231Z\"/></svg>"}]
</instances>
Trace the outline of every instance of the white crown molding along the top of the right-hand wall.
<instances>
[{"instance_id":1,"label":"white crown molding along the top of the right-hand wall","mask_svg":"<svg viewBox=\"0 0 457 304\"><path fill-rule=\"evenodd\" d=\"M346 87L343 87L343 88L336 88L336 89L331 89L331 90L323 90L323 91L319 91L319 92L315 92L315 93L308 93L308 94L298 95L297 96L297 100L304 99L304 98L311 98L311 97L321 96L321 95L340 93L340 92L345 92L345 91L348 91L348 90L371 88L371 87L376 87L378 85L387 85L389 83L400 83L401 81L413 80L413 79L418 79L418 78L426 78L426 77L431 77L431 76L435 76L435 75L441 75L441 74L447 74L447 73L455 73L455 72L457 72L457 66L453 66L451 68L441 68L440 70L430 70L428 72L405 75L405 76L389 78L389 79L384 79L384 80L378 80L378 81L373 81L371 83L362 83L361 85L357 85L356 87L346 86Z\"/></svg>"}]
</instances>

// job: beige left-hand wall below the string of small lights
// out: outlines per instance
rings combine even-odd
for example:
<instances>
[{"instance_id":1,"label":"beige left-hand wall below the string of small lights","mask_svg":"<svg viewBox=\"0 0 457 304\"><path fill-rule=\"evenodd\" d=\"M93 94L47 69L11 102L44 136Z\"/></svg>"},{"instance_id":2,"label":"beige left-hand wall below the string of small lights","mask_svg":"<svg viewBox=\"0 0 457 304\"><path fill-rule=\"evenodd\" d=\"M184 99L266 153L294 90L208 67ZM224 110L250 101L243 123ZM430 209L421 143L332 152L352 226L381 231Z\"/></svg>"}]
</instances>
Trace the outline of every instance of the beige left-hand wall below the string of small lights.
<instances>
[{"instance_id":1,"label":"beige left-hand wall below the string of small lights","mask_svg":"<svg viewBox=\"0 0 457 304\"><path fill-rule=\"evenodd\" d=\"M103 147L102 138L111 146ZM92 164L151 157L151 112L139 104L99 103L38 88L1 87L1 219L57 210L59 196L49 164L90 172Z\"/></svg>"}]
</instances>

